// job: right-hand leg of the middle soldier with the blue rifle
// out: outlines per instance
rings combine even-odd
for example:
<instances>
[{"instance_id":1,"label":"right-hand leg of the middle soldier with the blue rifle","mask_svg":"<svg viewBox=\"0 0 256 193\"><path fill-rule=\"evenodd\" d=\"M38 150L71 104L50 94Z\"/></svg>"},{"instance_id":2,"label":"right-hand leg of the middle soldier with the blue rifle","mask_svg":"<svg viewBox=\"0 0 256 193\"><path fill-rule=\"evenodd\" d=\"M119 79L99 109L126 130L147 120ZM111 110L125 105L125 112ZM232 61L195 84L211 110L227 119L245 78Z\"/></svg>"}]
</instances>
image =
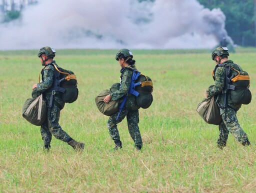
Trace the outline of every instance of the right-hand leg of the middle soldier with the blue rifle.
<instances>
[{"instance_id":1,"label":"right-hand leg of the middle soldier with the blue rifle","mask_svg":"<svg viewBox=\"0 0 256 193\"><path fill-rule=\"evenodd\" d=\"M134 146L137 149L141 149L142 139L141 139L141 135L138 127L138 121L139 121L138 110L129 111L126 115L126 119L127 119L127 125L128 125L130 136L134 141Z\"/></svg>"}]
</instances>

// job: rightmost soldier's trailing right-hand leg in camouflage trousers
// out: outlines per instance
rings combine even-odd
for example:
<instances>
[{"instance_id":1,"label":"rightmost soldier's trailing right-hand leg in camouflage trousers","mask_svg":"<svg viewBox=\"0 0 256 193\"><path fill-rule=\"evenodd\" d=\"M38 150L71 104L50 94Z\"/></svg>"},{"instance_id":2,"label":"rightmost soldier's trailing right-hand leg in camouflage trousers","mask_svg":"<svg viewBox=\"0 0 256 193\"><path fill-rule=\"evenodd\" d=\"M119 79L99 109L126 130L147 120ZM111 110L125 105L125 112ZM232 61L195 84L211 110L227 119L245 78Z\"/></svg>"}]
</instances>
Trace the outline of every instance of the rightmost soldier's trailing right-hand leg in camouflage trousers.
<instances>
[{"instance_id":1,"label":"rightmost soldier's trailing right-hand leg in camouflage trousers","mask_svg":"<svg viewBox=\"0 0 256 193\"><path fill-rule=\"evenodd\" d=\"M227 130L234 135L234 137L240 142L245 143L248 141L246 133L241 128L236 117L236 111L233 108L226 107L226 120L224 119L223 109L220 109L221 117L227 128Z\"/></svg>"}]
</instances>

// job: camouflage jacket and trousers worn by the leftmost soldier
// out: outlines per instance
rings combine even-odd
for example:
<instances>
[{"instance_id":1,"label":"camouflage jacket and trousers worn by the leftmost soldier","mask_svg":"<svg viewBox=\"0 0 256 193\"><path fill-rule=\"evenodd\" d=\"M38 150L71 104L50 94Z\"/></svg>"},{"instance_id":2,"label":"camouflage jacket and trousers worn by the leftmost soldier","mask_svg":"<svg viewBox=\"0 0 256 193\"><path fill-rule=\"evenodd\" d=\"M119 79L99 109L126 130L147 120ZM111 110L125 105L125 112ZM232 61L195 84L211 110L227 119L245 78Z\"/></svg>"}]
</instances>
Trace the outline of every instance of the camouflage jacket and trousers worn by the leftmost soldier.
<instances>
[{"instance_id":1,"label":"camouflage jacket and trousers worn by the leftmost soldier","mask_svg":"<svg viewBox=\"0 0 256 193\"><path fill-rule=\"evenodd\" d=\"M50 63L55 63L53 60ZM52 87L54 81L55 68L48 63L42 69L42 81L37 84L37 92L43 93L43 98L46 101L46 105L49 106L50 94L47 93ZM58 124L60 110L64 107L64 102L61 96L58 94L54 95L53 104L51 108L47 108L47 120L41 125L40 131L44 147L48 147L51 141L51 135L55 136L64 142L70 141L70 136L61 128Z\"/></svg>"}]
</instances>

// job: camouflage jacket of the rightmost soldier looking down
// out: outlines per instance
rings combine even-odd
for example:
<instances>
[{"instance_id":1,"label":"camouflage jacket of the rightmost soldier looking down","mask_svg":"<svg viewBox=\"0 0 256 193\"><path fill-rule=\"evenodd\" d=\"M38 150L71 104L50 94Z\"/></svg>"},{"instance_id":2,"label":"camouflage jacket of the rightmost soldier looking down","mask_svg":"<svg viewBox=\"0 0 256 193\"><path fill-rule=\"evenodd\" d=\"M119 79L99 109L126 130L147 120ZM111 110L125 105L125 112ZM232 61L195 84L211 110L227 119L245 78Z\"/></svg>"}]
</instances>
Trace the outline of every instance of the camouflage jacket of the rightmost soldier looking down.
<instances>
[{"instance_id":1,"label":"camouflage jacket of the rightmost soldier looking down","mask_svg":"<svg viewBox=\"0 0 256 193\"><path fill-rule=\"evenodd\" d=\"M237 66L237 64L233 63L232 60L226 60L222 64L228 64L233 68L239 70L239 67ZM212 95L217 95L217 102L221 107L224 105L223 87L225 84L225 67L224 66L217 67L214 76L215 76L215 84L210 85L207 88L206 93L208 94L209 97ZM234 110L238 110L241 107L241 104L235 104L231 101L230 91L228 91L227 94L228 94L227 105L229 105Z\"/></svg>"}]
</instances>

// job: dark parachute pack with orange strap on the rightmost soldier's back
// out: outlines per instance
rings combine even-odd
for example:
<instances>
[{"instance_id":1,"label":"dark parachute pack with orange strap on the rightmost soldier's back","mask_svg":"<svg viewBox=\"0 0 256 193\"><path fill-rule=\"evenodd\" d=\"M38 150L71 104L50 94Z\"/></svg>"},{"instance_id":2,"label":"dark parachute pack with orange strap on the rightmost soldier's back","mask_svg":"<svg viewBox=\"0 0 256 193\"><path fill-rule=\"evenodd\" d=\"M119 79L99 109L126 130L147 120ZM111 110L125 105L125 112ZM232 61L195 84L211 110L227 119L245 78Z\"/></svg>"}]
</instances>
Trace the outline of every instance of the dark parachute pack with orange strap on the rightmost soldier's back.
<instances>
[{"instance_id":1,"label":"dark parachute pack with orange strap on the rightmost soldier's back","mask_svg":"<svg viewBox=\"0 0 256 193\"><path fill-rule=\"evenodd\" d=\"M225 67L225 85L226 93L230 91L231 100L236 104L248 104L251 101L251 92L249 90L250 78L246 71L236 64L239 70L228 64L217 64L212 72L212 77L215 80L215 71L217 67ZM227 97L227 96L226 96Z\"/></svg>"}]
</instances>

